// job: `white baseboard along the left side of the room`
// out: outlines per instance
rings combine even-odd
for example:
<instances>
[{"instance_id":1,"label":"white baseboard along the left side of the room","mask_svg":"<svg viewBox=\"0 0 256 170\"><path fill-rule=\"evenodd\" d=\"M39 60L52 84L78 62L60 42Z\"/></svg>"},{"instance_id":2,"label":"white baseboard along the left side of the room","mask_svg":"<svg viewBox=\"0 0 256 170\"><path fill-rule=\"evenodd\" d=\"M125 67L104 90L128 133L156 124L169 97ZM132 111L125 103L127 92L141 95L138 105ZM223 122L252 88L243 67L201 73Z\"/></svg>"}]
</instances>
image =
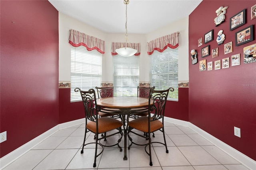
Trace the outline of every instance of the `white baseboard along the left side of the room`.
<instances>
[{"instance_id":1,"label":"white baseboard along the left side of the room","mask_svg":"<svg viewBox=\"0 0 256 170\"><path fill-rule=\"evenodd\" d=\"M14 160L18 159L20 156L24 155L26 152L28 152L29 150L34 148L40 142L42 142L45 139L47 139L48 137L50 137L56 131L58 131L60 129L67 128L67 127L71 127L74 125L79 125L81 123L84 123L84 118L66 122L66 123L61 123L61 124L58 124L58 125L52 127L45 133L39 135L38 137L32 139L28 143L25 143L21 147L15 149L14 151L12 151L12 152L8 153L7 155L3 156L2 158L0 158L0 170L2 170L3 168L5 168L9 164L11 164Z\"/></svg>"}]
</instances>

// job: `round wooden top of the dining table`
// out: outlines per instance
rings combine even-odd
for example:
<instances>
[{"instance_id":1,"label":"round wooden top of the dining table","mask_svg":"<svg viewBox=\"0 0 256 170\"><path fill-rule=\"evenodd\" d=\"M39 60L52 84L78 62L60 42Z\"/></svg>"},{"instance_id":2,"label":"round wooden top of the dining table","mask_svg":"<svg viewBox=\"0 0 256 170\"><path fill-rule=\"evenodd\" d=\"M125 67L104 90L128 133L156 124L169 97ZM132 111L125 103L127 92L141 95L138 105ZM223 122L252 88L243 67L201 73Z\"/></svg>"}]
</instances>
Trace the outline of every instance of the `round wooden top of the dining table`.
<instances>
[{"instance_id":1,"label":"round wooden top of the dining table","mask_svg":"<svg viewBox=\"0 0 256 170\"><path fill-rule=\"evenodd\" d=\"M151 101L152 103L152 101ZM139 108L148 106L148 98L140 98L140 97L110 97L110 98L100 98L97 100L97 105L101 107L108 108Z\"/></svg>"}]
</instances>

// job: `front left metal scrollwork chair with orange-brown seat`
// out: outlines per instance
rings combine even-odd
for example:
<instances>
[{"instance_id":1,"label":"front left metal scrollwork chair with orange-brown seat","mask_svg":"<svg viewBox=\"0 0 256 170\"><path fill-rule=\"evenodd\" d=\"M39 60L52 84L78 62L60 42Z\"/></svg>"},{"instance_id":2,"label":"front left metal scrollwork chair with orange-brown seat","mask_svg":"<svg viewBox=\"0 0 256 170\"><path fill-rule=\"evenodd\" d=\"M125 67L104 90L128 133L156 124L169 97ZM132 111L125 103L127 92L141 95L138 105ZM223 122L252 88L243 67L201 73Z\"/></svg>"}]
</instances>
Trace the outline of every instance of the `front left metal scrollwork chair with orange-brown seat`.
<instances>
[{"instance_id":1,"label":"front left metal scrollwork chair with orange-brown seat","mask_svg":"<svg viewBox=\"0 0 256 170\"><path fill-rule=\"evenodd\" d=\"M94 89L90 89L88 91L82 91L80 88L75 88L75 92L80 92L82 97L82 102L84 105L84 112L85 112L85 133L84 133L84 142L81 150L81 154L84 153L84 147L88 144L95 143L95 155L94 155L94 164L93 167L96 167L96 158L102 154L104 147L113 147L115 145L118 146L120 152L122 148L119 146L119 143L122 139L122 122L114 119L112 117L98 117L98 107L96 102L96 94ZM99 137L100 133L105 133L108 131L112 131L117 129L118 131L115 133L110 133L110 135ZM96 141L92 143L85 143L86 141L86 134L88 132L92 132L96 136ZM100 143L101 139L106 139L107 137L120 134L120 138L118 139L117 143L114 145L102 145ZM98 145L102 147L102 151L97 154Z\"/></svg>"}]
</instances>

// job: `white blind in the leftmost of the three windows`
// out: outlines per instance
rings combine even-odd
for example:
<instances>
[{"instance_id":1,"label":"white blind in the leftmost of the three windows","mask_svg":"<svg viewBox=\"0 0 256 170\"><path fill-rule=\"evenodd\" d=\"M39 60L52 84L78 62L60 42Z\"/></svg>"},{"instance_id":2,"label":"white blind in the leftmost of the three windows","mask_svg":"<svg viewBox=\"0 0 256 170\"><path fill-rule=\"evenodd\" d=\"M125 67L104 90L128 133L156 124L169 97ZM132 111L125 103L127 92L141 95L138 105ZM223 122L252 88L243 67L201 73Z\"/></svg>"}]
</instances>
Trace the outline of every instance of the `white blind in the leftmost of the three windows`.
<instances>
[{"instance_id":1,"label":"white blind in the leftmost of the three windows","mask_svg":"<svg viewBox=\"0 0 256 170\"><path fill-rule=\"evenodd\" d=\"M72 46L70 79L70 102L82 101L81 94L74 89L89 90L101 86L102 55L96 50L87 51L83 46Z\"/></svg>"}]
</instances>

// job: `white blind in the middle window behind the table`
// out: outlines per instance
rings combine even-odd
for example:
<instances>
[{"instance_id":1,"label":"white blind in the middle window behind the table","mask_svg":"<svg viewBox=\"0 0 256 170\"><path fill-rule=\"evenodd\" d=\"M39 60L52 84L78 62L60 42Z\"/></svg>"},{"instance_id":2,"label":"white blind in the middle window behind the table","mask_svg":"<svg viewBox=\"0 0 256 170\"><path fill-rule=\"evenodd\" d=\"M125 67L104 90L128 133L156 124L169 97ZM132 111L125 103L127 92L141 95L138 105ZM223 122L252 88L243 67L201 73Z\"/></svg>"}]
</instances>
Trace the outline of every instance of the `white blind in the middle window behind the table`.
<instances>
[{"instance_id":1,"label":"white blind in the middle window behind the table","mask_svg":"<svg viewBox=\"0 0 256 170\"><path fill-rule=\"evenodd\" d=\"M113 56L114 96L137 96L140 77L138 56Z\"/></svg>"}]
</instances>

